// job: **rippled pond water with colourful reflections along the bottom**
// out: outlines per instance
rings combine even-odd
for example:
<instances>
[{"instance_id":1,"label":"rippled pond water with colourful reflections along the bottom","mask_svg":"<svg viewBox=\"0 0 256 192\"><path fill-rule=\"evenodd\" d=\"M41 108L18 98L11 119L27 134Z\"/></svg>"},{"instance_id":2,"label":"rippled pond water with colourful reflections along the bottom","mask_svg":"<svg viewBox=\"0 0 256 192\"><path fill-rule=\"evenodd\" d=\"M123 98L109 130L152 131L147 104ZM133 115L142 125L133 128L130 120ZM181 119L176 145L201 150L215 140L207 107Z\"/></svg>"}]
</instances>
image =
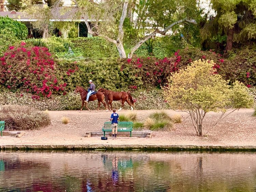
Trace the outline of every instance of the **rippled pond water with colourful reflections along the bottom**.
<instances>
[{"instance_id":1,"label":"rippled pond water with colourful reflections along the bottom","mask_svg":"<svg viewBox=\"0 0 256 192\"><path fill-rule=\"evenodd\" d=\"M256 153L1 151L0 191L256 191Z\"/></svg>"}]
</instances>

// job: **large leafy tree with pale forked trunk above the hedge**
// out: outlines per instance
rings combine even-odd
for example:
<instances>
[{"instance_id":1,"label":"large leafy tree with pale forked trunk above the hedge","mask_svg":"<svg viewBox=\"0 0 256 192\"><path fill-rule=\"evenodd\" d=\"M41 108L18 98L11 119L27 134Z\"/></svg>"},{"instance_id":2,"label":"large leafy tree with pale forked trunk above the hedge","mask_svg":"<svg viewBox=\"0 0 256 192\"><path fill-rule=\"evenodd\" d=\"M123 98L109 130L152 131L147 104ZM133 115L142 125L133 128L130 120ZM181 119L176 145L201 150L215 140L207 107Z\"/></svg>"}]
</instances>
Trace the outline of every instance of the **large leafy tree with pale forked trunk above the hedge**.
<instances>
[{"instance_id":1,"label":"large leafy tree with pale forked trunk above the hedge","mask_svg":"<svg viewBox=\"0 0 256 192\"><path fill-rule=\"evenodd\" d=\"M187 2L195 2L190 0L109 0L97 1L97 3L91 0L71 1L84 18L88 33L102 36L114 43L120 58L127 57L124 49L126 35L132 38L129 41L134 43L128 54L130 58L134 51L148 39L154 38L157 33L166 35L173 26L182 23L196 24L196 21L189 16L190 8L187 5L191 3ZM60 4L61 0L56 0L54 7ZM133 15L138 15L135 21ZM91 25L88 18L93 19ZM148 26L152 28L148 29Z\"/></svg>"}]
</instances>

